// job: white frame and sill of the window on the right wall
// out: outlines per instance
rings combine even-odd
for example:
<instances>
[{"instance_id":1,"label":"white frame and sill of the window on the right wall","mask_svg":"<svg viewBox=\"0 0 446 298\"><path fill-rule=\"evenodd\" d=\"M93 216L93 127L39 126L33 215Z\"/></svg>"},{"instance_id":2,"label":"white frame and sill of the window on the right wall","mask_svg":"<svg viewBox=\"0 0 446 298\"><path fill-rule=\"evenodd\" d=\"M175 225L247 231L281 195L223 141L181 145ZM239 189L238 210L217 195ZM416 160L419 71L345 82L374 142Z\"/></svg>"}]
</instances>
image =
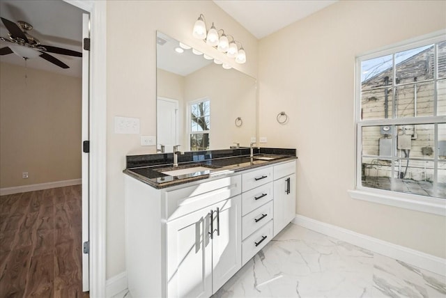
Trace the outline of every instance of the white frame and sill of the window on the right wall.
<instances>
[{"instance_id":1,"label":"white frame and sill of the window on the right wall","mask_svg":"<svg viewBox=\"0 0 446 298\"><path fill-rule=\"evenodd\" d=\"M426 36L421 36L418 38L413 38L411 40L406 40L405 42L400 42L395 45L390 45L378 51L364 53L356 57L356 65L355 65L356 175L355 175L355 190L348 190L348 194L351 196L351 198L446 216L445 198L420 196L417 194L407 194L398 191L363 187L362 177L361 177L362 127L382 126L382 125L404 125L408 123L408 119L410 120L410 124L414 125L446 122L446 116L429 116L429 117L416 117L416 118L394 118L392 116L392 118L385 119L385 121L383 121L383 119L362 120L361 119L361 62L367 61L372 58L377 58L380 56L386 56L397 52L403 52L408 49L413 49L416 47L422 47L424 45L433 44L442 40L446 40L446 29L431 33ZM394 84L394 82L392 82L392 84ZM436 102L434 107L434 113L436 114ZM438 155L438 152L436 153L436 155Z\"/></svg>"}]
</instances>

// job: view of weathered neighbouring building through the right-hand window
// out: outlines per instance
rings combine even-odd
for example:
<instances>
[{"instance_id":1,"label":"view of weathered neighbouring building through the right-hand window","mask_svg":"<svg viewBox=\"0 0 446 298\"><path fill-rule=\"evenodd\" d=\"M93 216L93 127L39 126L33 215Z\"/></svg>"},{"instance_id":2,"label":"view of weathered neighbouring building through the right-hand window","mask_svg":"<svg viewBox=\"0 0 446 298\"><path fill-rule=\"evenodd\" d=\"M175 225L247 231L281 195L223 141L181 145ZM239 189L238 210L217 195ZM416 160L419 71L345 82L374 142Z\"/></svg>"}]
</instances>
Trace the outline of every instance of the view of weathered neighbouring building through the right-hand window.
<instances>
[{"instance_id":1,"label":"view of weathered neighbouring building through the right-hand window","mask_svg":"<svg viewBox=\"0 0 446 298\"><path fill-rule=\"evenodd\" d=\"M445 36L359 57L357 72L357 188L446 198Z\"/></svg>"}]
</instances>

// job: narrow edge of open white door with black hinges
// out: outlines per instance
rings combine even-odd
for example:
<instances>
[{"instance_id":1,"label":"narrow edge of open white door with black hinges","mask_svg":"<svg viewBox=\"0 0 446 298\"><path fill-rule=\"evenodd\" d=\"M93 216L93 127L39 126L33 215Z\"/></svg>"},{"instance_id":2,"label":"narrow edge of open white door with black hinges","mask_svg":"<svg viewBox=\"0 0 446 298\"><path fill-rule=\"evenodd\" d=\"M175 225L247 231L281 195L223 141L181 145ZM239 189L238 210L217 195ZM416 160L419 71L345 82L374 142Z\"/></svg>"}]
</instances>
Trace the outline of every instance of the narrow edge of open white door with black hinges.
<instances>
[{"instance_id":1,"label":"narrow edge of open white door with black hinges","mask_svg":"<svg viewBox=\"0 0 446 298\"><path fill-rule=\"evenodd\" d=\"M82 39L89 38L89 15L82 15ZM89 284L89 51L82 47L82 290L90 290ZM87 151L87 152L85 152ZM88 246L88 247L87 247Z\"/></svg>"}]
</instances>

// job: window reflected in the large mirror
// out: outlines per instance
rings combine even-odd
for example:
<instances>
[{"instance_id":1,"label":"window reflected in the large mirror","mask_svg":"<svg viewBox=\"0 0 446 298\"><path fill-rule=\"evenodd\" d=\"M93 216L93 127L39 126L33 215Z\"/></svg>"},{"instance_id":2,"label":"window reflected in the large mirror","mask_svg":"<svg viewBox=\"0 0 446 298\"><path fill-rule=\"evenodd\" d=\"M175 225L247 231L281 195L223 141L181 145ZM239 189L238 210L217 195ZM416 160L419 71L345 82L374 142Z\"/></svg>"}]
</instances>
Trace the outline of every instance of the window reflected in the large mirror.
<instances>
[{"instance_id":1,"label":"window reflected in the large mirror","mask_svg":"<svg viewBox=\"0 0 446 298\"><path fill-rule=\"evenodd\" d=\"M210 132L210 100L190 103L190 150L208 150Z\"/></svg>"}]
</instances>

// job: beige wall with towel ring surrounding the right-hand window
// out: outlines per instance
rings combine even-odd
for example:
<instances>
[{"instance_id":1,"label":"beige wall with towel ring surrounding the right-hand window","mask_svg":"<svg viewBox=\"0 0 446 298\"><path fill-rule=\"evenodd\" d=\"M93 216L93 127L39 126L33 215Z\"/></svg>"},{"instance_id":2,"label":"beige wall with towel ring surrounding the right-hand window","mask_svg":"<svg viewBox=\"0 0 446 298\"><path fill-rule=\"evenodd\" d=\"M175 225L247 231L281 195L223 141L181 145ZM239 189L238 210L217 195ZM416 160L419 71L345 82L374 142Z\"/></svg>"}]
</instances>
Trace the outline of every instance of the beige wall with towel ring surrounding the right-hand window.
<instances>
[{"instance_id":1,"label":"beige wall with towel ring surrounding the right-hand window","mask_svg":"<svg viewBox=\"0 0 446 298\"><path fill-rule=\"evenodd\" d=\"M347 194L355 187L355 56L444 28L445 1L339 1L261 40L260 136L298 148L298 214L446 257L445 217ZM276 122L279 111L287 125Z\"/></svg>"}]
</instances>

